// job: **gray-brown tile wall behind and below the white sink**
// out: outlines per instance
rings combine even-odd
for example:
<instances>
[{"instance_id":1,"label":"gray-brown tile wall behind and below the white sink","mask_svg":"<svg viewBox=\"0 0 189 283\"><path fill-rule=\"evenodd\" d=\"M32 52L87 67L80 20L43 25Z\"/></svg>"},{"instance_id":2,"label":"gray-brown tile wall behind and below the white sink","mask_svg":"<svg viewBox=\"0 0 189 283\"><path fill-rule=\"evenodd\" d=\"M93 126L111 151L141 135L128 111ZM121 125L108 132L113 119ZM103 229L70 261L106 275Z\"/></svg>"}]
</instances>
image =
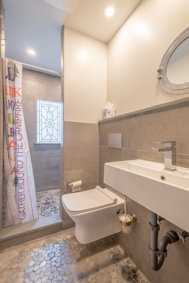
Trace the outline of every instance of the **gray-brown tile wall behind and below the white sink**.
<instances>
[{"instance_id":1,"label":"gray-brown tile wall behind and below the white sink","mask_svg":"<svg viewBox=\"0 0 189 283\"><path fill-rule=\"evenodd\" d=\"M151 152L154 141L177 142L177 166L189 168L189 106L151 113L130 119L99 125L99 185L103 183L104 163L128 159L145 159L164 163L164 153ZM107 147L107 135L122 133L122 149ZM115 192L117 193L117 192ZM121 196L120 193L118 195ZM123 195L122 195L123 197ZM182 201L182 200L178 200ZM175 210L177 208L175 207ZM186 243L177 241L167 247L167 258L158 272L149 264L150 211L131 199L127 199L127 212L134 213L137 221L132 223L132 232L114 236L126 254L134 261L151 283L183 283L189 278L189 238ZM181 228L164 220L160 224L159 239L169 230L181 232Z\"/></svg>"}]
</instances>

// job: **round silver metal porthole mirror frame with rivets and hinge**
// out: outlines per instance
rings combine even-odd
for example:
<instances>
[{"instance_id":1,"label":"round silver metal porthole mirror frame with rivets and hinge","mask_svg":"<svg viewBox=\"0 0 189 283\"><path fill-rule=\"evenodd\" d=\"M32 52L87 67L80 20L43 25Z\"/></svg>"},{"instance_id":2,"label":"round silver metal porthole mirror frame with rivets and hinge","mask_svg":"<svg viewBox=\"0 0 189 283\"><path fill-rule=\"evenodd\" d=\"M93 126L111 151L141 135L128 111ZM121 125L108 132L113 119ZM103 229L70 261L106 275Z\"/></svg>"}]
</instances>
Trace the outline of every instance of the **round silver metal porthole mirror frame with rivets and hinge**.
<instances>
[{"instance_id":1,"label":"round silver metal porthole mirror frame with rivets and hinge","mask_svg":"<svg viewBox=\"0 0 189 283\"><path fill-rule=\"evenodd\" d=\"M172 94L183 94L189 92L189 82L182 84L171 83L166 76L166 68L167 63L175 51L175 49L186 39L189 37L189 27L187 27L183 32L181 32L177 38L171 43L168 47L167 51L163 55L161 63L159 65L159 69L157 69L157 79L159 80L160 86L164 89L164 91Z\"/></svg>"}]
</instances>

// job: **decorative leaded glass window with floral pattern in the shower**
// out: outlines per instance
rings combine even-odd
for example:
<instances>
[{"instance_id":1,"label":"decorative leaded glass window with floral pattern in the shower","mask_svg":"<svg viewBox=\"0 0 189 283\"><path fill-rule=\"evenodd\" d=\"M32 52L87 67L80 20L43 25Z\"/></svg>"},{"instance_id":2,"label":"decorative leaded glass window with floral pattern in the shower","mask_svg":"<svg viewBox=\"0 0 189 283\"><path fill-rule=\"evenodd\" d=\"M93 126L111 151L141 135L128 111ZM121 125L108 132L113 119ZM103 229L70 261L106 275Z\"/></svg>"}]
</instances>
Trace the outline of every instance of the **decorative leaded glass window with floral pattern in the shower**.
<instances>
[{"instance_id":1,"label":"decorative leaded glass window with floral pattern in the shower","mask_svg":"<svg viewBox=\"0 0 189 283\"><path fill-rule=\"evenodd\" d=\"M59 143L61 138L61 103L38 100L38 143Z\"/></svg>"}]
</instances>

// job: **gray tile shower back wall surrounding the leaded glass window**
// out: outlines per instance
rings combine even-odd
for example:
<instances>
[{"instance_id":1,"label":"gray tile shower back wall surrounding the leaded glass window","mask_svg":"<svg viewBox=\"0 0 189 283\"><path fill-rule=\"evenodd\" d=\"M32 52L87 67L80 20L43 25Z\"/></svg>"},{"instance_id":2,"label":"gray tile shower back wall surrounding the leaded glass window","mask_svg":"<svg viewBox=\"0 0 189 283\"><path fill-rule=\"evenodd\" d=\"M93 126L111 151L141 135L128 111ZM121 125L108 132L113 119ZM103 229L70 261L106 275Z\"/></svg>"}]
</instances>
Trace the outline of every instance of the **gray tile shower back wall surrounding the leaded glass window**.
<instances>
[{"instance_id":1,"label":"gray tile shower back wall surrounding the leaded glass window","mask_svg":"<svg viewBox=\"0 0 189 283\"><path fill-rule=\"evenodd\" d=\"M22 106L35 179L35 190L60 188L61 149L37 142L37 100L61 102L61 78L22 69Z\"/></svg>"}]
</instances>

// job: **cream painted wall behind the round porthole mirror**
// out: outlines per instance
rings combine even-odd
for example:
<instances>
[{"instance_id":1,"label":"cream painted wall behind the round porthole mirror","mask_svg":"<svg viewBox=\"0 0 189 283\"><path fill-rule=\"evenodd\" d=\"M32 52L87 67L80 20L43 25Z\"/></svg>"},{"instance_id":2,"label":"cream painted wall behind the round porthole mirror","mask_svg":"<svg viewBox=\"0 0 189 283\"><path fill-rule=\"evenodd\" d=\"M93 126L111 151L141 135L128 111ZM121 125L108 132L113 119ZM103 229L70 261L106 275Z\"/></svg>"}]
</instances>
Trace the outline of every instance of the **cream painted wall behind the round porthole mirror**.
<instances>
[{"instance_id":1,"label":"cream painted wall behind the round porthole mirror","mask_svg":"<svg viewBox=\"0 0 189 283\"><path fill-rule=\"evenodd\" d=\"M161 59L189 26L188 0L143 0L108 43L107 101L121 115L183 97L163 91Z\"/></svg>"}]
</instances>

